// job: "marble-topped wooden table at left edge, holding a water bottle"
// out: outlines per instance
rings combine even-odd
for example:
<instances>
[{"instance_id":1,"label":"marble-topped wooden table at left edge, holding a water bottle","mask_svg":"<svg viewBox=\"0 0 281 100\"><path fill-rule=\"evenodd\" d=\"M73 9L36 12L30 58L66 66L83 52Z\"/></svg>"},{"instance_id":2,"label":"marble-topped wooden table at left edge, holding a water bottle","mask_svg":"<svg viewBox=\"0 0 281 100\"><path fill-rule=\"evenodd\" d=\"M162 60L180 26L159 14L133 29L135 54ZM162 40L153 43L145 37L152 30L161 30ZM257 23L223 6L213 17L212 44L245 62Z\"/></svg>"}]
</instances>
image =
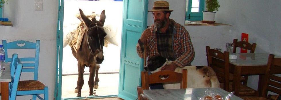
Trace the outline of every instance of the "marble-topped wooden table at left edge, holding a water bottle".
<instances>
[{"instance_id":1,"label":"marble-topped wooden table at left edge, holding a water bottle","mask_svg":"<svg viewBox=\"0 0 281 100\"><path fill-rule=\"evenodd\" d=\"M5 63L5 70L1 73L1 100L9 100L9 82L11 82L10 64Z\"/></svg>"}]
</instances>

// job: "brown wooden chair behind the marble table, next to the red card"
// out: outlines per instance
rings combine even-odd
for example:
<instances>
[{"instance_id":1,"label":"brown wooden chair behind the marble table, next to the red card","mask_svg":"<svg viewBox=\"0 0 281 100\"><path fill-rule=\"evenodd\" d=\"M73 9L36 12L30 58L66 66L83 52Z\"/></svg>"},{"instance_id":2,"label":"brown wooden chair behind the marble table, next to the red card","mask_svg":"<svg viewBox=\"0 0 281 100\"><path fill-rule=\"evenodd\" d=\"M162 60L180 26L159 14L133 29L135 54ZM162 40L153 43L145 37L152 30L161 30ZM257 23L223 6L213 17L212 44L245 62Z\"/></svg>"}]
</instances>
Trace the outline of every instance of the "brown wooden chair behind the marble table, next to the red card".
<instances>
[{"instance_id":1,"label":"brown wooden chair behind the marble table, next to the red card","mask_svg":"<svg viewBox=\"0 0 281 100\"><path fill-rule=\"evenodd\" d=\"M237 39L233 39L233 53L236 53L237 47L250 50L250 53L254 53L256 46L257 46L256 43L250 44L249 42L246 42L246 41L239 41L238 42ZM233 78L231 78L231 79L233 79ZM247 85L248 76L245 75L244 77L242 77L241 81L243 82L243 85Z\"/></svg>"}]
</instances>

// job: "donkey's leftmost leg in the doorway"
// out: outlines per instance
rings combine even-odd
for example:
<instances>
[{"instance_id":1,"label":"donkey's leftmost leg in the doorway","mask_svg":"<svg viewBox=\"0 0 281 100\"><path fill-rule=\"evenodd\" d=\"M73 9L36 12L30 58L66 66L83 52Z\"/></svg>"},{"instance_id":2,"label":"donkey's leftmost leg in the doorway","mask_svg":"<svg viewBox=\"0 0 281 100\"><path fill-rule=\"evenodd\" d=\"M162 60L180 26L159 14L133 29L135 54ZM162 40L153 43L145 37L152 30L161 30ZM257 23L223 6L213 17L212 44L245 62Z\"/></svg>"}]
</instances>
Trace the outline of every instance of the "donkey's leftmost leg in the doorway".
<instances>
[{"instance_id":1,"label":"donkey's leftmost leg in the doorway","mask_svg":"<svg viewBox=\"0 0 281 100\"><path fill-rule=\"evenodd\" d=\"M83 78L83 73L84 73L85 66L82 65L80 62L78 62L78 80L77 80L77 87L75 88L78 90L77 91L77 97L81 97L81 89L84 85L84 78Z\"/></svg>"}]
</instances>

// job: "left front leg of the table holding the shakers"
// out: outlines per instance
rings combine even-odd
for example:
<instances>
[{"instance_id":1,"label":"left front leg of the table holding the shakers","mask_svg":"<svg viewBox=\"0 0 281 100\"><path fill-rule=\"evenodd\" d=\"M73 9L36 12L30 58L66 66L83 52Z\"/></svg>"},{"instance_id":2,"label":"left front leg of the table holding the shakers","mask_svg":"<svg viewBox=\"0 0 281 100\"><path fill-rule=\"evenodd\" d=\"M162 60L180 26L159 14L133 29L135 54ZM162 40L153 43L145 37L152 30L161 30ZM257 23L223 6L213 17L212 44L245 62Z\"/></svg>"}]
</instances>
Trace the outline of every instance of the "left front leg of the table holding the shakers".
<instances>
[{"instance_id":1,"label":"left front leg of the table holding the shakers","mask_svg":"<svg viewBox=\"0 0 281 100\"><path fill-rule=\"evenodd\" d=\"M236 96L239 96L239 89L240 89L240 77L241 77L241 66L234 67L234 75L233 75L233 84L231 91L234 91Z\"/></svg>"}]
</instances>

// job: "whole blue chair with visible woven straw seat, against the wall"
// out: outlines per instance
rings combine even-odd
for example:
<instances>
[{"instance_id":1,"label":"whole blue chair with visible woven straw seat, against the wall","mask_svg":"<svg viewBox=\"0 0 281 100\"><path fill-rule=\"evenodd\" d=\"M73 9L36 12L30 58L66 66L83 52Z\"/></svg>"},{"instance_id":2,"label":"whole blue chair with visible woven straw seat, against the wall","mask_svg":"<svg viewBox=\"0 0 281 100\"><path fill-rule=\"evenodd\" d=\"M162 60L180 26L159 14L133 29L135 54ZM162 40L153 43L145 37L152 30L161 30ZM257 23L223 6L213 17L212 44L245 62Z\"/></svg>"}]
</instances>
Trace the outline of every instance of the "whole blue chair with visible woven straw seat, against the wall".
<instances>
[{"instance_id":1,"label":"whole blue chair with visible woven straw seat, against the wall","mask_svg":"<svg viewBox=\"0 0 281 100\"><path fill-rule=\"evenodd\" d=\"M33 95L33 100L36 100L37 97L41 100L48 100L48 87L38 81L40 40L36 40L36 43L23 40L7 43L6 40L3 40L2 43L5 50L6 62L12 61L12 58L9 58L8 56L9 50L13 51L19 49L20 52L23 52L24 50L29 52L35 50L35 56L33 57L19 57L23 63L22 72L34 73L34 77L33 80L19 81L17 95ZM44 99L40 97L39 94L44 94Z\"/></svg>"}]
</instances>

